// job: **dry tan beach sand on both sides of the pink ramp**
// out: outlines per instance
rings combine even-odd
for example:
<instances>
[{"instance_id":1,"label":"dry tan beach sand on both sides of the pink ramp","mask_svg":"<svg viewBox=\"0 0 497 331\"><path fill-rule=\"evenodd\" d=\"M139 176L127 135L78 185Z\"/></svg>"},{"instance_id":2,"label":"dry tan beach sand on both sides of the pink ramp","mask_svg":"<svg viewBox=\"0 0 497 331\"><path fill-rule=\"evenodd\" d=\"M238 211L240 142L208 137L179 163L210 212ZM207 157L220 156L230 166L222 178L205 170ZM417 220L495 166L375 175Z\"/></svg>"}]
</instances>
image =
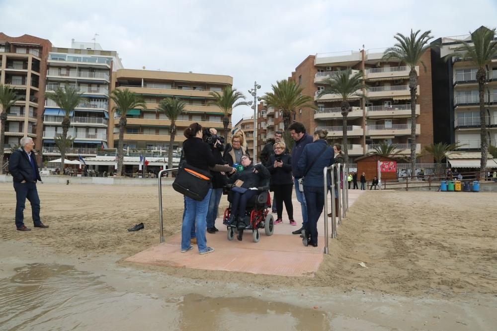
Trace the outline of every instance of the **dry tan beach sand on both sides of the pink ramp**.
<instances>
[{"instance_id":1,"label":"dry tan beach sand on both sides of the pink ramp","mask_svg":"<svg viewBox=\"0 0 497 331\"><path fill-rule=\"evenodd\" d=\"M77 259L130 256L159 241L155 187L38 184L42 221L50 229L15 231L15 196L0 185L2 241L35 243ZM192 279L274 286L328 287L419 297L497 294L497 220L494 193L368 191L350 209L330 241L314 278L295 279L136 265ZM226 206L223 199L221 207ZM165 236L179 232L182 196L164 189ZM26 225L31 226L26 206ZM128 232L143 222L145 229ZM209 236L209 235L208 235ZM209 238L209 237L207 237ZM1 254L1 253L0 253ZM364 262L366 267L361 267ZM124 262L121 262L124 263Z\"/></svg>"}]
</instances>

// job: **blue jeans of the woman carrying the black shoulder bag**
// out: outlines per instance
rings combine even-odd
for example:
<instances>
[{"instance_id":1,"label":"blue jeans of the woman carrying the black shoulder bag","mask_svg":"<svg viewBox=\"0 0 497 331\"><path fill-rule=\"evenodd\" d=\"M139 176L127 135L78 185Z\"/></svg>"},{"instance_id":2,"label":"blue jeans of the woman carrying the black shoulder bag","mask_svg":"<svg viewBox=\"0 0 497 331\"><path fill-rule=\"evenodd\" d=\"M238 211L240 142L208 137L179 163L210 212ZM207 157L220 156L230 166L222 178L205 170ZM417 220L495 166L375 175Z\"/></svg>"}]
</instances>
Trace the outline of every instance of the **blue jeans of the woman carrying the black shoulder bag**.
<instances>
[{"instance_id":1,"label":"blue jeans of the woman carrying the black shoulder bag","mask_svg":"<svg viewBox=\"0 0 497 331\"><path fill-rule=\"evenodd\" d=\"M202 201L185 197L186 213L181 226L181 249L190 247L190 238L193 225L196 228L198 251L207 250L207 239L205 238L207 210L212 189L209 189Z\"/></svg>"}]
</instances>

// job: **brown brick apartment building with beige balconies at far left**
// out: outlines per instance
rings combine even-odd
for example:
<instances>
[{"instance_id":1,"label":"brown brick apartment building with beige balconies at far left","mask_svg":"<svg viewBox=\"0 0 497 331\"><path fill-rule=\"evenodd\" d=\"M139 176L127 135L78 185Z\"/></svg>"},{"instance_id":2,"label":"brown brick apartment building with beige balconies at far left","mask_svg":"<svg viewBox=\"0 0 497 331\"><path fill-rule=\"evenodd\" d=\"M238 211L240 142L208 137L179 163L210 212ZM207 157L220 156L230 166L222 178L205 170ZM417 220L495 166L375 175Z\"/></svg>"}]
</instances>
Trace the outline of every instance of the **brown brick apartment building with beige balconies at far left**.
<instances>
[{"instance_id":1,"label":"brown brick apartment building with beige balconies at far left","mask_svg":"<svg viewBox=\"0 0 497 331\"><path fill-rule=\"evenodd\" d=\"M52 44L46 39L23 35L10 37L0 32L0 84L13 88L20 100L7 112L5 154L20 138L33 138L41 146L46 59ZM0 160L3 164L3 160Z\"/></svg>"}]
</instances>

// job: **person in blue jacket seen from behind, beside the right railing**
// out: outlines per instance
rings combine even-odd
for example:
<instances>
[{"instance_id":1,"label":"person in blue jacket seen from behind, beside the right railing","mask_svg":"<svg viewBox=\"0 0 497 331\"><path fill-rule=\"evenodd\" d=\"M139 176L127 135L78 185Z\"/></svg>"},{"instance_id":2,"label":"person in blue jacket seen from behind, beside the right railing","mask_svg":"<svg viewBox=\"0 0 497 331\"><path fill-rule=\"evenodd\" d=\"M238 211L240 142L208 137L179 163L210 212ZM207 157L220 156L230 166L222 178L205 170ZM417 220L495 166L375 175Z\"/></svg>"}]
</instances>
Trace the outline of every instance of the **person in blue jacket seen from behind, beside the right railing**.
<instances>
[{"instance_id":1,"label":"person in blue jacket seen from behind, beside the right railing","mask_svg":"<svg viewBox=\"0 0 497 331\"><path fill-rule=\"evenodd\" d=\"M328 145L327 130L314 132L314 142L304 147L298 161L297 168L304 175L304 195L307 201L307 223L302 230L302 243L304 246L318 247L318 220L325 206L325 189L323 187L325 166L334 162L334 153ZM328 183L331 178L328 178Z\"/></svg>"}]
</instances>

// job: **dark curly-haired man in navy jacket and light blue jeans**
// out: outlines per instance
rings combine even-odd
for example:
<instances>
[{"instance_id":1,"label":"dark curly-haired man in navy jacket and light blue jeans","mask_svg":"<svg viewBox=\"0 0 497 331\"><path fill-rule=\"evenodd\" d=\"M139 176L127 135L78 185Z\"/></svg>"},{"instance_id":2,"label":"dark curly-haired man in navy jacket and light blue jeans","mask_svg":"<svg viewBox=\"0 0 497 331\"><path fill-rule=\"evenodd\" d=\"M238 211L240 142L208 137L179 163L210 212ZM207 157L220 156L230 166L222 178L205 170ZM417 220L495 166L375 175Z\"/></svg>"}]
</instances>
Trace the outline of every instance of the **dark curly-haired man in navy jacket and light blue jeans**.
<instances>
[{"instance_id":1,"label":"dark curly-haired man in navy jacket and light blue jeans","mask_svg":"<svg viewBox=\"0 0 497 331\"><path fill-rule=\"evenodd\" d=\"M302 178L302 176L304 174L302 174L299 171L297 164L299 162L302 151L304 150L304 147L307 144L310 144L313 142L313 137L306 133L306 128L304 127L304 124L299 123L299 122L293 122L288 127L288 130L290 130L290 134L292 135L292 139L295 141L295 144L293 145L293 149L292 149L292 173L293 173L293 177L294 177L295 194L297 196L297 201L300 202L300 207L302 209L302 228L300 228L299 230L293 231L292 234L300 235L302 233L302 230L305 228L306 223L307 223L307 204L306 204L306 198L304 196L304 192L301 192L299 190L299 181L298 180L300 178Z\"/></svg>"}]
</instances>

